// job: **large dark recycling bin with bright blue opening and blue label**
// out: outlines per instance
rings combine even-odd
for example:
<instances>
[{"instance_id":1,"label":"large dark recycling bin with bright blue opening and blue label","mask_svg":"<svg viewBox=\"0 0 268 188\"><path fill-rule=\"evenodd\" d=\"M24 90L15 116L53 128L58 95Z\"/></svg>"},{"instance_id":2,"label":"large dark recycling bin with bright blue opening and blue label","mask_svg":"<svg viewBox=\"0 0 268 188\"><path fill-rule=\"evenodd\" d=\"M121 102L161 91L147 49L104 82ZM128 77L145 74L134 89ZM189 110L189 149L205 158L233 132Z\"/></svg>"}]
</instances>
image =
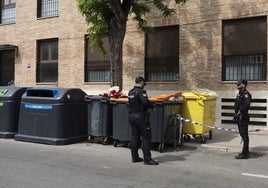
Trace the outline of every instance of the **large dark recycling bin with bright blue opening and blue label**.
<instances>
[{"instance_id":1,"label":"large dark recycling bin with bright blue opening and blue label","mask_svg":"<svg viewBox=\"0 0 268 188\"><path fill-rule=\"evenodd\" d=\"M15 140L51 145L87 140L85 95L78 88L27 89Z\"/></svg>"}]
</instances>

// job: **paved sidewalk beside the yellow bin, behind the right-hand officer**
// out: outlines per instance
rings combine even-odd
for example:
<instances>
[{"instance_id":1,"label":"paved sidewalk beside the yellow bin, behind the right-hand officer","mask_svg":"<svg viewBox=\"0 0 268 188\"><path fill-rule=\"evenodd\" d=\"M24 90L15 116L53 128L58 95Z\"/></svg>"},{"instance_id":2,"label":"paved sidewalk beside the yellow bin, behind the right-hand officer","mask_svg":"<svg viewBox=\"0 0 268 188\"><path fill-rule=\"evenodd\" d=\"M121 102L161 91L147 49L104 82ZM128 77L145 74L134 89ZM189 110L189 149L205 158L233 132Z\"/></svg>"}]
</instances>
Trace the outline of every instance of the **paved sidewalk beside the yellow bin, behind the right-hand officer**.
<instances>
[{"instance_id":1,"label":"paved sidewalk beside the yellow bin, behind the right-hand officer","mask_svg":"<svg viewBox=\"0 0 268 188\"><path fill-rule=\"evenodd\" d=\"M200 148L218 150L221 152L238 153L242 150L241 137L237 132L213 130L212 139L207 138L206 143L200 143L200 138L192 138L184 145L197 145ZM268 155L268 131L249 132L249 150L253 153Z\"/></svg>"}]
</instances>

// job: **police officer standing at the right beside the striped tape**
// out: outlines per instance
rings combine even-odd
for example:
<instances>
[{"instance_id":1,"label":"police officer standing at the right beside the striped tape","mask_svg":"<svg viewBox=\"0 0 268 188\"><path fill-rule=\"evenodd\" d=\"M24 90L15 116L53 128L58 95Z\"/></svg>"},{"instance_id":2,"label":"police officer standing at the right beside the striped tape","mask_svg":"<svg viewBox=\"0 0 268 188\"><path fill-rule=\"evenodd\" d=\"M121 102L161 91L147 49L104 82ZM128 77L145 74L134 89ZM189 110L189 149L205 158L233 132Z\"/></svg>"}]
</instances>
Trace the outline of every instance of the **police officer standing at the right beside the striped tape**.
<instances>
[{"instance_id":1,"label":"police officer standing at the right beside the striped tape","mask_svg":"<svg viewBox=\"0 0 268 188\"><path fill-rule=\"evenodd\" d=\"M237 122L239 134L243 140L242 153L235 156L236 159L248 159L249 156L249 137L248 137L248 110L251 103L251 94L246 89L247 80L241 79L237 83L239 93L235 100L235 116L234 120Z\"/></svg>"}]
</instances>

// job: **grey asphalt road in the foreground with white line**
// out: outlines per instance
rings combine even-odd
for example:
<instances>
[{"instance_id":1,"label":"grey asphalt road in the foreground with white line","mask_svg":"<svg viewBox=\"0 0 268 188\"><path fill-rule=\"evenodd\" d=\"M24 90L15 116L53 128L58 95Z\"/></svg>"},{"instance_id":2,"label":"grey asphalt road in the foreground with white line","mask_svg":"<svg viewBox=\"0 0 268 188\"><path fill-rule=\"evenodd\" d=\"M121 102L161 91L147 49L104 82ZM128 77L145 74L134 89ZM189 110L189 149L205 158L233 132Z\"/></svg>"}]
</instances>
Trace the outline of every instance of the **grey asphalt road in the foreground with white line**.
<instances>
[{"instance_id":1,"label":"grey asphalt road in the foreground with white line","mask_svg":"<svg viewBox=\"0 0 268 188\"><path fill-rule=\"evenodd\" d=\"M125 147L78 143L51 146L0 140L1 188L268 187L267 156L184 146L153 151L158 166L131 163Z\"/></svg>"}]
</instances>

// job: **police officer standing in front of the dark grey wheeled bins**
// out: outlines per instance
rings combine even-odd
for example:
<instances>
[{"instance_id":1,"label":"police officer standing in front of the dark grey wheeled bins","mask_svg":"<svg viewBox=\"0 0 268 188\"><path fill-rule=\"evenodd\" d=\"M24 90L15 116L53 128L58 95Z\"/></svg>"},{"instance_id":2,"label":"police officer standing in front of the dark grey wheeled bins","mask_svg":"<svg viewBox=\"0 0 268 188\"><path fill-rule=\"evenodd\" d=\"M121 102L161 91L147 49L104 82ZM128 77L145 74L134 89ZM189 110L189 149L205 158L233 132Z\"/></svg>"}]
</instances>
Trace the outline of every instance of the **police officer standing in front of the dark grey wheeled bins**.
<instances>
[{"instance_id":1,"label":"police officer standing in front of the dark grey wheeled bins","mask_svg":"<svg viewBox=\"0 0 268 188\"><path fill-rule=\"evenodd\" d=\"M158 162L151 158L150 110L154 109L154 105L148 100L146 91L143 89L145 85L144 78L137 76L134 88L128 93L131 156L133 163L143 161L145 165L158 165ZM140 138L142 138L143 159L138 154Z\"/></svg>"}]
</instances>

